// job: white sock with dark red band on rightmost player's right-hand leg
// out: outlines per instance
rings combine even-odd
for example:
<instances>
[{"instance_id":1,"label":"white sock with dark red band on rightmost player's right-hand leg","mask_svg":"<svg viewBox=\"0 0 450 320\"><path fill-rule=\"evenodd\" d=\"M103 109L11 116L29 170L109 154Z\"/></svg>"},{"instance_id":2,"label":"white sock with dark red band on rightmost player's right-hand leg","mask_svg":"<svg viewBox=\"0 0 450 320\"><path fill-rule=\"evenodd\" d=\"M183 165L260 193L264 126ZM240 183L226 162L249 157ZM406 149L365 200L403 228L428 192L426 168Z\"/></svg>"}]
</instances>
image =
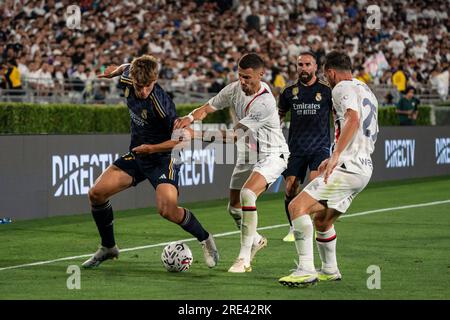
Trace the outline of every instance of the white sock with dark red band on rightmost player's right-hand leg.
<instances>
[{"instance_id":1,"label":"white sock with dark red band on rightmost player's right-hand leg","mask_svg":"<svg viewBox=\"0 0 450 320\"><path fill-rule=\"evenodd\" d=\"M325 232L316 231L316 243L322 260L322 270L329 273L337 271L336 231L334 225Z\"/></svg>"}]
</instances>

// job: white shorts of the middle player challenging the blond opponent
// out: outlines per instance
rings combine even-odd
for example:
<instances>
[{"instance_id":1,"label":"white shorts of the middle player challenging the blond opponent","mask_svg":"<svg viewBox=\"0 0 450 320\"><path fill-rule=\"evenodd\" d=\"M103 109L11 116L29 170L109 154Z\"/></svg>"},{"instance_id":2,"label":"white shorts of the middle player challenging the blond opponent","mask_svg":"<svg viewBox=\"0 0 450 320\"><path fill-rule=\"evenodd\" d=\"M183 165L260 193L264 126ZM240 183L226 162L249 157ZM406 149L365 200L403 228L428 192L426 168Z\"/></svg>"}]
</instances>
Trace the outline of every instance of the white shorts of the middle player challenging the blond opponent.
<instances>
[{"instance_id":1,"label":"white shorts of the middle player challenging the blond opponent","mask_svg":"<svg viewBox=\"0 0 450 320\"><path fill-rule=\"evenodd\" d=\"M288 158L289 154L285 154L284 158L279 155L270 155L255 164L236 164L231 175L230 189L241 190L253 171L260 173L267 184L271 185L286 170Z\"/></svg>"}]
</instances>

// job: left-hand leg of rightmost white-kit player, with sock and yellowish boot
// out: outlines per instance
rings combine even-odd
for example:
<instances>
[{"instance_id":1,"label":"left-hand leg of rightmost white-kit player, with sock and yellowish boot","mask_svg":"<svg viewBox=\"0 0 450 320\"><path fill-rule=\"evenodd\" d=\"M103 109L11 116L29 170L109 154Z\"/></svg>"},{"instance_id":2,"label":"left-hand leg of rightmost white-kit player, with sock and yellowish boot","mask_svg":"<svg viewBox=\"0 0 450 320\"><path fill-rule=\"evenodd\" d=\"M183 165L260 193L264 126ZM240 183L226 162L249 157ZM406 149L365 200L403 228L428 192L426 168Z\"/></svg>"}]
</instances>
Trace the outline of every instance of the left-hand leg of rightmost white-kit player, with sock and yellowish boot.
<instances>
[{"instance_id":1,"label":"left-hand leg of rightmost white-kit player, with sock and yellowish boot","mask_svg":"<svg viewBox=\"0 0 450 320\"><path fill-rule=\"evenodd\" d=\"M314 228L310 215L325 209L325 206L306 192L301 192L291 201L289 212L294 226L295 247L299 261L296 271L280 278L279 282L281 284L286 286L308 286L318 281L313 255Z\"/></svg>"}]
</instances>

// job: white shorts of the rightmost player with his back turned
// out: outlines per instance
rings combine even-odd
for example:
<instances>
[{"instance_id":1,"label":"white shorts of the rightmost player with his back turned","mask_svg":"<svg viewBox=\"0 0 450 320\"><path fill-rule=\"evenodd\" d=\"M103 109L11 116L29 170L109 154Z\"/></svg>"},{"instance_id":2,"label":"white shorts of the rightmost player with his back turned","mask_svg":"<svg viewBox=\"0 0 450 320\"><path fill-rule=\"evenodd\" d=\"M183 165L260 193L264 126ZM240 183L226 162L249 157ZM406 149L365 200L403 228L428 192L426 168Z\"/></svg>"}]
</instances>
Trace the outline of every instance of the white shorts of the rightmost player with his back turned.
<instances>
[{"instance_id":1,"label":"white shorts of the rightmost player with his back turned","mask_svg":"<svg viewBox=\"0 0 450 320\"><path fill-rule=\"evenodd\" d=\"M311 197L319 202L325 202L328 208L345 213L356 197L369 183L370 176L335 168L325 184L320 175L311 181L304 189Z\"/></svg>"}]
</instances>

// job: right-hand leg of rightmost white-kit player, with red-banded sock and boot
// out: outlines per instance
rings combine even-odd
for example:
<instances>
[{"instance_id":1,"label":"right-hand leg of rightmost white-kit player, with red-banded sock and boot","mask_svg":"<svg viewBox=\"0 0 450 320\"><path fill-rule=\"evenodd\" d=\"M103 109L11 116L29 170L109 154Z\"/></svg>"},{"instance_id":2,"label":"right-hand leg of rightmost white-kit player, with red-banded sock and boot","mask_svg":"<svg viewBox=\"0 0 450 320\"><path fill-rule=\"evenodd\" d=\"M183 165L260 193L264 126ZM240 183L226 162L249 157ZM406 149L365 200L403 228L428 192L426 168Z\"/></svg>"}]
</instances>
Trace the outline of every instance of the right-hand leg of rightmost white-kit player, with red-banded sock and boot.
<instances>
[{"instance_id":1,"label":"right-hand leg of rightmost white-kit player, with red-banded sock and boot","mask_svg":"<svg viewBox=\"0 0 450 320\"><path fill-rule=\"evenodd\" d=\"M334 222L341 215L335 209L327 208L314 215L314 226L316 227L316 244L319 251L322 266L319 270L319 280L335 281L341 280L336 259L336 231Z\"/></svg>"}]
</instances>

